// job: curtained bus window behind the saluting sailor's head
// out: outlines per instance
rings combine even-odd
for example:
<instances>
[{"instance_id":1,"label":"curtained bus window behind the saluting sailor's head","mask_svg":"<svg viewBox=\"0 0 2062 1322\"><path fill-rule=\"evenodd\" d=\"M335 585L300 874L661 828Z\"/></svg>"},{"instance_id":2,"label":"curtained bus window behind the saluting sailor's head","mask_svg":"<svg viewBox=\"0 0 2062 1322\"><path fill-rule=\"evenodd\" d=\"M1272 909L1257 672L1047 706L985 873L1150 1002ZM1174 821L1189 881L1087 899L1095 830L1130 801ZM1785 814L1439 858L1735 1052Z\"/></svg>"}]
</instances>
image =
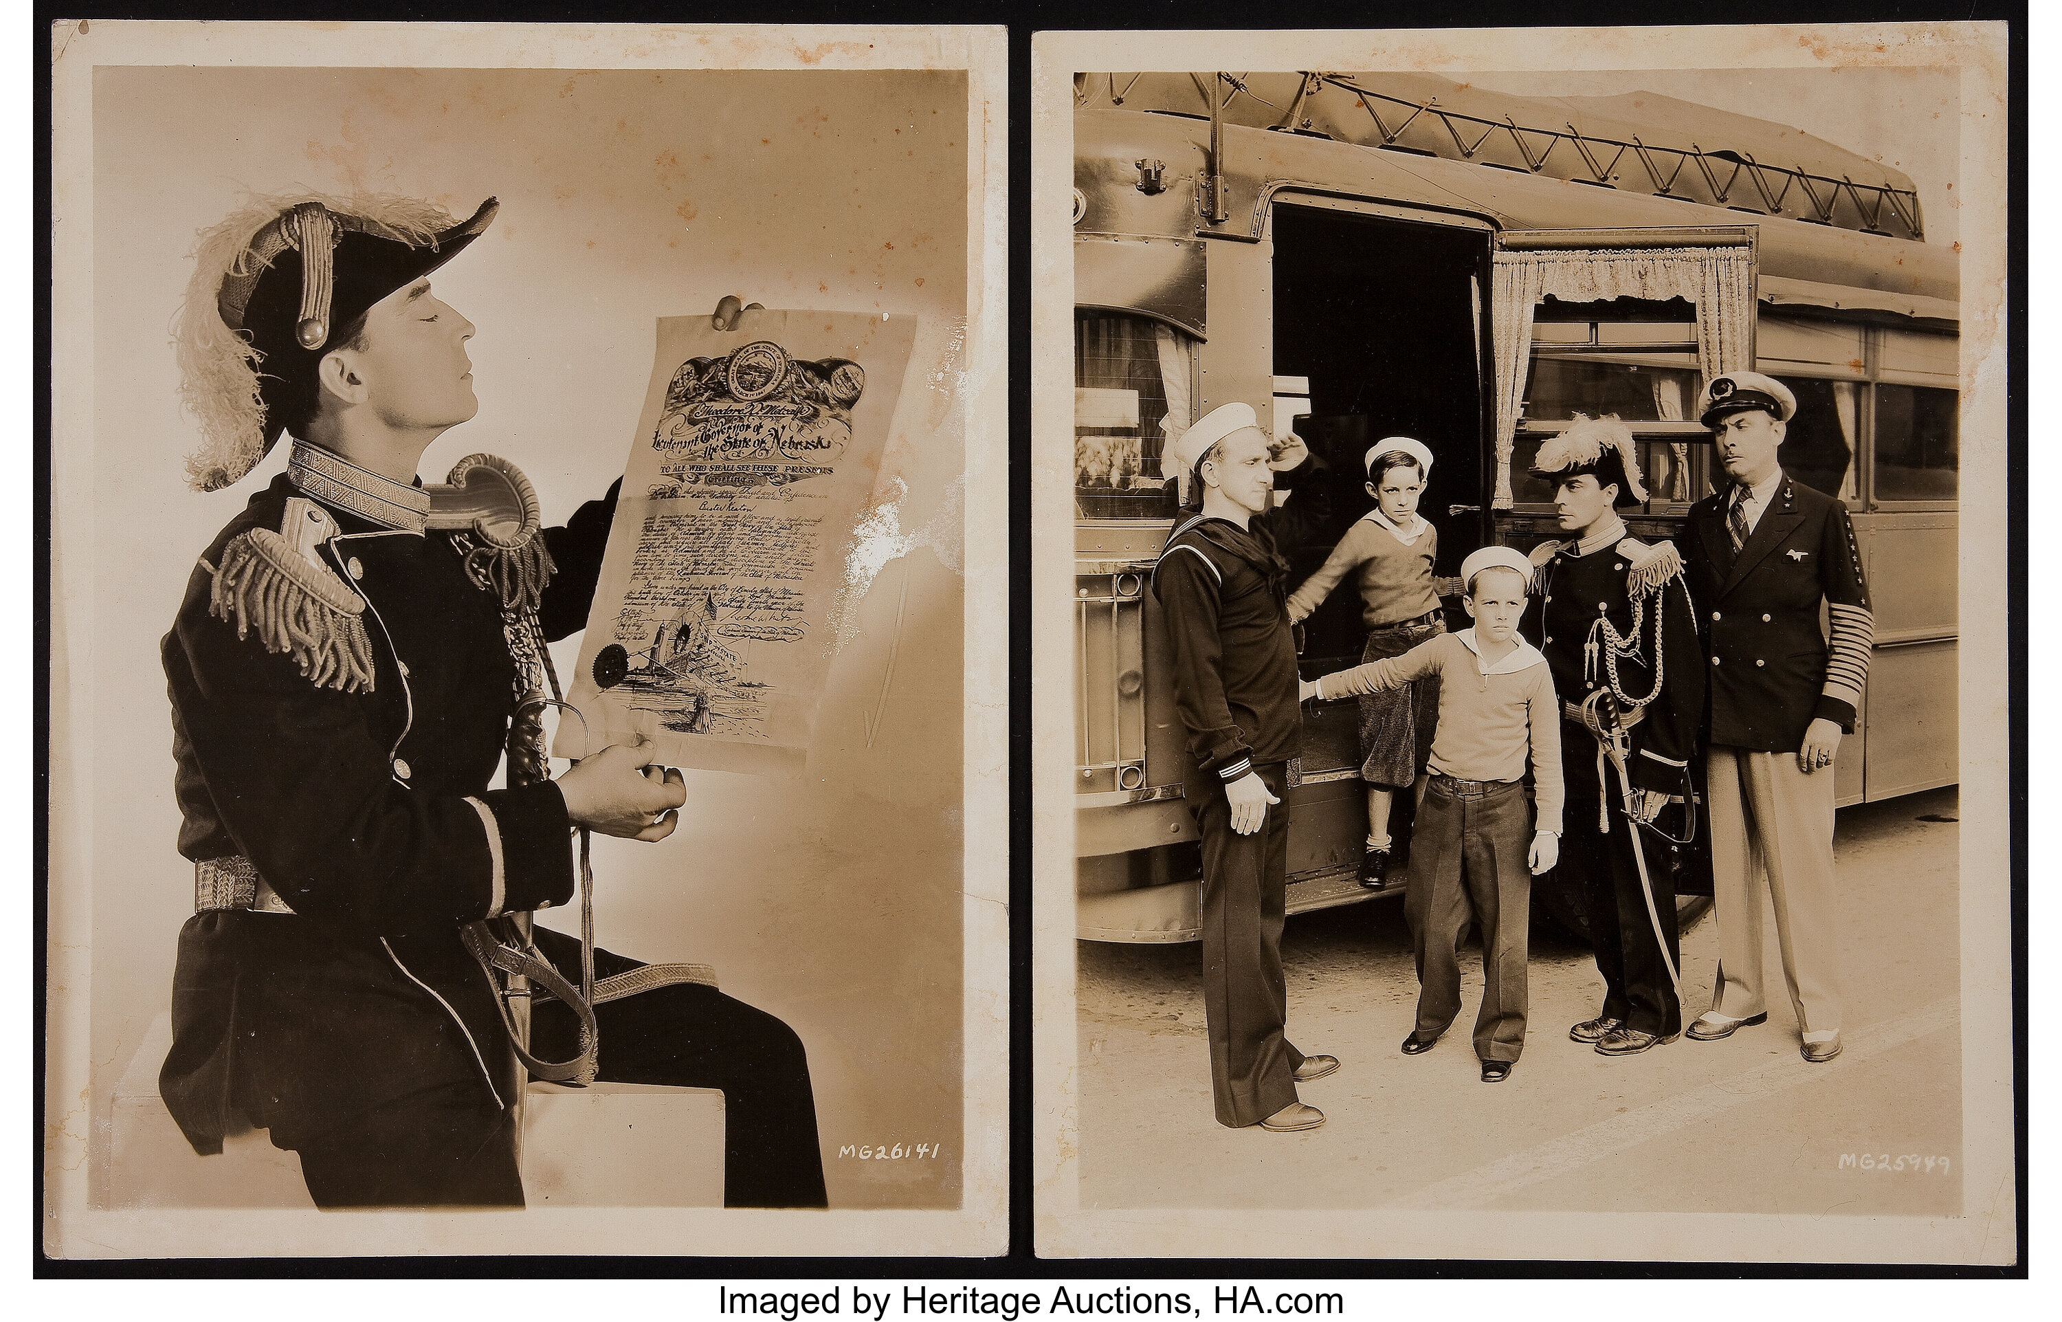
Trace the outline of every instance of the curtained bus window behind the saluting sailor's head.
<instances>
[{"instance_id":1,"label":"curtained bus window behind the saluting sailor's head","mask_svg":"<svg viewBox=\"0 0 2062 1322\"><path fill-rule=\"evenodd\" d=\"M1194 340L1124 311L1074 311L1074 514L1165 520L1169 435L1194 421Z\"/></svg>"}]
</instances>

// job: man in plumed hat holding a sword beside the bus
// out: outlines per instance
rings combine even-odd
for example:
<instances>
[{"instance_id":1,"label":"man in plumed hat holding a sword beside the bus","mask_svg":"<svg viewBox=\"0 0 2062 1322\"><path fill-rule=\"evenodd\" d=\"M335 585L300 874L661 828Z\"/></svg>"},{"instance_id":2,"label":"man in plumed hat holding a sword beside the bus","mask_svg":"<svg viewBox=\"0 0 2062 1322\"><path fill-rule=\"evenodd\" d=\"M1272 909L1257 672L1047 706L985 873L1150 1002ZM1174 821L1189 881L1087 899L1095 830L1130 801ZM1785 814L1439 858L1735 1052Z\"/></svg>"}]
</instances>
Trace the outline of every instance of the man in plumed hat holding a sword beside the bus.
<instances>
[{"instance_id":1,"label":"man in plumed hat holding a sword beside the bus","mask_svg":"<svg viewBox=\"0 0 2062 1322\"><path fill-rule=\"evenodd\" d=\"M1643 825L1687 798L1703 658L1676 549L1629 536L1619 516L1648 499L1631 429L1577 417L1540 445L1532 472L1553 483L1569 536L1532 551L1524 633L1561 697L1561 866L1582 879L1604 976L1604 1004L1569 1037L1635 1056L1683 1031L1674 883Z\"/></svg>"}]
</instances>

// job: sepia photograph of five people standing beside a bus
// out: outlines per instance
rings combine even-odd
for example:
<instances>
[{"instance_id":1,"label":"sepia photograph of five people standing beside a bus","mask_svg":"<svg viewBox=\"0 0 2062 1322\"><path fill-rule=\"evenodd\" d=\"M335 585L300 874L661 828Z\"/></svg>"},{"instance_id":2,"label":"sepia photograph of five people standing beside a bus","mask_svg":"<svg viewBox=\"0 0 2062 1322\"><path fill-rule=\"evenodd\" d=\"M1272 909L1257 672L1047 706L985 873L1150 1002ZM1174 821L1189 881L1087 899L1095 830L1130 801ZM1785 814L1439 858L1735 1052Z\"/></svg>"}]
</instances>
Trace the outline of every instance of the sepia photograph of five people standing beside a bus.
<instances>
[{"instance_id":1,"label":"sepia photograph of five people standing beside a bus","mask_svg":"<svg viewBox=\"0 0 2062 1322\"><path fill-rule=\"evenodd\" d=\"M1041 1254L2013 1260L2004 95L1037 37Z\"/></svg>"}]
</instances>

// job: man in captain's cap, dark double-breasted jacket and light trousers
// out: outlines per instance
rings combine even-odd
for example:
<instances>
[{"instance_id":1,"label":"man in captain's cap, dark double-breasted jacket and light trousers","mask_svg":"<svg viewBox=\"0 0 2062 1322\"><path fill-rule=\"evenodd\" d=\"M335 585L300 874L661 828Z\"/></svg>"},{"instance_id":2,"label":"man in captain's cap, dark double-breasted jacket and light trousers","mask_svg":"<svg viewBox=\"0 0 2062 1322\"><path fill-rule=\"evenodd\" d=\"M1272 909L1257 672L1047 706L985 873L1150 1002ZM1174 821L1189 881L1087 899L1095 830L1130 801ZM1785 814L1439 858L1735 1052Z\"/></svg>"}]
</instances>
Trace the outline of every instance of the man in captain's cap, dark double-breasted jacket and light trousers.
<instances>
[{"instance_id":1,"label":"man in captain's cap, dark double-breasted jacket and light trousers","mask_svg":"<svg viewBox=\"0 0 2062 1322\"><path fill-rule=\"evenodd\" d=\"M1761 922L1773 907L1800 1052L1825 1062L1839 1054L1833 761L1862 703L1874 617L1848 507L1780 462L1796 410L1790 388L1759 371L1711 377L1699 400L1728 481L1691 505L1685 530L1709 658L1720 951L1711 1009L1689 1035L1767 1023Z\"/></svg>"}]
</instances>

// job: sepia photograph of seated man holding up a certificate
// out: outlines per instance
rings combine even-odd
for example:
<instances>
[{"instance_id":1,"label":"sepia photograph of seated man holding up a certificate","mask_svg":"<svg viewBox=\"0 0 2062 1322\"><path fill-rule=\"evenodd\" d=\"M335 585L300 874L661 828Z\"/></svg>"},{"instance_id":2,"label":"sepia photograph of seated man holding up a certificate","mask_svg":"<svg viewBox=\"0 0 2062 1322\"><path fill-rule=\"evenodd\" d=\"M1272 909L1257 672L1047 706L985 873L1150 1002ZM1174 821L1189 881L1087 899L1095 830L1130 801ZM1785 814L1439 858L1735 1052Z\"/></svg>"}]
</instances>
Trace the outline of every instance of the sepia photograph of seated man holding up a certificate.
<instances>
[{"instance_id":1,"label":"sepia photograph of seated man holding up a certificate","mask_svg":"<svg viewBox=\"0 0 2062 1322\"><path fill-rule=\"evenodd\" d=\"M1004 1252L1004 49L52 29L49 1256Z\"/></svg>"}]
</instances>

